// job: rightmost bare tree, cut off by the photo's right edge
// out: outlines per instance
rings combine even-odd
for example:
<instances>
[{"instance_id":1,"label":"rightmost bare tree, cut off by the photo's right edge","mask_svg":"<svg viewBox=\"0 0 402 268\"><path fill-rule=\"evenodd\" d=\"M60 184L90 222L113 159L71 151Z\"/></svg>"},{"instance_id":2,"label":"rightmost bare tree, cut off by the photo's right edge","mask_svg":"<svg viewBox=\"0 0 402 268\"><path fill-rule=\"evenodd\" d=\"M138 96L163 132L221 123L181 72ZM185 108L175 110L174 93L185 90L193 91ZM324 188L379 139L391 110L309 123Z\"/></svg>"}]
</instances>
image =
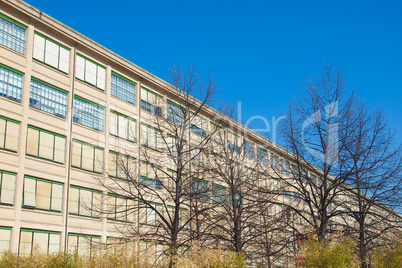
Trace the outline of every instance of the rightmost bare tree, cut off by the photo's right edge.
<instances>
[{"instance_id":1,"label":"rightmost bare tree, cut off by the photo's right edge","mask_svg":"<svg viewBox=\"0 0 402 268\"><path fill-rule=\"evenodd\" d=\"M348 224L346 230L358 234L359 257L367 267L368 253L392 235L400 216L394 209L402 204L401 145L393 143L394 134L387 127L380 109L370 112L363 102L354 132L349 135L348 168L352 170L347 183L352 195L343 206L347 215L357 224Z\"/></svg>"}]
</instances>

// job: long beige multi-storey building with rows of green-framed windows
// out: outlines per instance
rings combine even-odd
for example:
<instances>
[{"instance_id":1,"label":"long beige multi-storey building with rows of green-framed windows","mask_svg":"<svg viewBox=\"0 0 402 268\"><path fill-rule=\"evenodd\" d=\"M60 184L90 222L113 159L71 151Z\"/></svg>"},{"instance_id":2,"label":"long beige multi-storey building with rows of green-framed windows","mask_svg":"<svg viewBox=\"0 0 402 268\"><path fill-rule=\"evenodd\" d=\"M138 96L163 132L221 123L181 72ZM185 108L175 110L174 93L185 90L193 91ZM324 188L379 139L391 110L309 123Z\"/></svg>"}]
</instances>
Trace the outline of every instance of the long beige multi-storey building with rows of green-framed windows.
<instances>
[{"instance_id":1,"label":"long beige multi-storey building with rows of green-framed windows","mask_svg":"<svg viewBox=\"0 0 402 268\"><path fill-rule=\"evenodd\" d=\"M116 146L134 150L141 135L152 136L149 114L166 114L171 95L165 81L41 11L22 1L2 1L0 250L26 255L38 244L48 252L66 246L88 252L91 243L119 236L115 221L136 219L100 215L97 208L107 192L94 177L104 167L119 177L110 161ZM214 123L208 116L215 111L208 109L198 134ZM233 124L248 132L253 157L286 161L288 152ZM242 137L226 135L230 148L241 146ZM159 148L157 140L146 142ZM127 165L132 160L127 158ZM289 196L297 199L295 193Z\"/></svg>"}]
</instances>

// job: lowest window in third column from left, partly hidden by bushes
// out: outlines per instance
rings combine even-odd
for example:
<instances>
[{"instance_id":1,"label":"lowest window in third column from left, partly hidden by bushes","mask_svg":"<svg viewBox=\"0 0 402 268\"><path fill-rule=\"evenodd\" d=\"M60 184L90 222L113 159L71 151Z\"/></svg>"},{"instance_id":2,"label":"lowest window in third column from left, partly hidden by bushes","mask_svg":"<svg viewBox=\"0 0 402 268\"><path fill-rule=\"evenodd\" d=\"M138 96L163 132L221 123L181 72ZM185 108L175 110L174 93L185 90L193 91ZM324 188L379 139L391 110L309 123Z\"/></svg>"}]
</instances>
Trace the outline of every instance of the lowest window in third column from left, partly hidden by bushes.
<instances>
[{"instance_id":1,"label":"lowest window in third column from left, partly hidden by bushes","mask_svg":"<svg viewBox=\"0 0 402 268\"><path fill-rule=\"evenodd\" d=\"M77 251L80 256L91 256L93 249L100 245L100 236L83 235L83 234L68 234L68 250L71 252Z\"/></svg>"}]
</instances>

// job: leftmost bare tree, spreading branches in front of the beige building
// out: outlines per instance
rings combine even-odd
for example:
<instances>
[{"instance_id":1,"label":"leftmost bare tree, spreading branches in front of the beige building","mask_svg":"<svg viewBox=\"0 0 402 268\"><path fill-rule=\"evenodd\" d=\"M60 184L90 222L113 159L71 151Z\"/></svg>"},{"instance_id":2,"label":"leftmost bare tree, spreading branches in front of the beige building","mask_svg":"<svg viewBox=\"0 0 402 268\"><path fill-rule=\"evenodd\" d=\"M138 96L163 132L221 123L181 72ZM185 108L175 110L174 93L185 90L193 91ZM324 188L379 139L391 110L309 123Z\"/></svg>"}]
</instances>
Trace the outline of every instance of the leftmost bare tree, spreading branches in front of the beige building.
<instances>
[{"instance_id":1,"label":"leftmost bare tree, spreading branches in front of the beige building","mask_svg":"<svg viewBox=\"0 0 402 268\"><path fill-rule=\"evenodd\" d=\"M108 193L131 200L131 206L116 203L116 213L137 215L136 224L120 226L122 234L166 245L173 266L178 249L201 238L203 230L199 229L194 237L194 219L210 210L205 202L198 205L208 189L194 192L194 178L203 180L205 175L193 162L214 134L207 131L204 120L213 113L209 105L217 88L212 76L204 81L193 67L185 71L180 65L170 70L170 83L166 100L141 89L137 150L119 152L135 157L137 165L129 166L124 157L112 159L125 180L108 172L102 183Z\"/></svg>"}]
</instances>

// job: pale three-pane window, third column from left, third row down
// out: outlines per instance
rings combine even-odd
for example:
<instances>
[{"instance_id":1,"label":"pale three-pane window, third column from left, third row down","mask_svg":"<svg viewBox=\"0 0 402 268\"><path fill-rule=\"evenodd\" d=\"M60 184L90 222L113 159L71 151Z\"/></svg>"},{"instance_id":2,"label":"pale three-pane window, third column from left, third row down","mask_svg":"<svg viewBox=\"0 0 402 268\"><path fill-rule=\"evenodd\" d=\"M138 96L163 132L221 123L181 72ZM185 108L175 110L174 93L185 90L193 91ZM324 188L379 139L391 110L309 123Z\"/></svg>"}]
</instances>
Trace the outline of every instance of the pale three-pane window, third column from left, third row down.
<instances>
[{"instance_id":1,"label":"pale three-pane window, third column from left, third row down","mask_svg":"<svg viewBox=\"0 0 402 268\"><path fill-rule=\"evenodd\" d=\"M71 166L91 172L103 171L103 148L73 140Z\"/></svg>"}]
</instances>

